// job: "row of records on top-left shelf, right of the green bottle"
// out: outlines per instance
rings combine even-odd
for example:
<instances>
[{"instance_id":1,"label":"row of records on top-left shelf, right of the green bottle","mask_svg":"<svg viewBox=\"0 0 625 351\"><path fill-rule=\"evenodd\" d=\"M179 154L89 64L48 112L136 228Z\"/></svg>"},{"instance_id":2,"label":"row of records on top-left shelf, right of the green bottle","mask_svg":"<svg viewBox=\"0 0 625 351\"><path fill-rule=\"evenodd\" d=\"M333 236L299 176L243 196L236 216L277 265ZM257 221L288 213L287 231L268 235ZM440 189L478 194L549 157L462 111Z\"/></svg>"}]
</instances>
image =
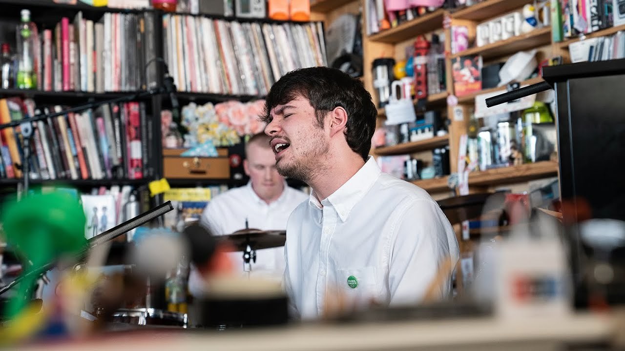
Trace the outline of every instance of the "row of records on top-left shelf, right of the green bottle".
<instances>
[{"instance_id":1,"label":"row of records on top-left shelf, right of the green bottle","mask_svg":"<svg viewBox=\"0 0 625 351\"><path fill-rule=\"evenodd\" d=\"M44 29L36 52L37 88L42 91L113 92L154 88L157 65L156 14L107 12L100 21L62 17ZM151 30L152 29L152 30Z\"/></svg>"}]
</instances>

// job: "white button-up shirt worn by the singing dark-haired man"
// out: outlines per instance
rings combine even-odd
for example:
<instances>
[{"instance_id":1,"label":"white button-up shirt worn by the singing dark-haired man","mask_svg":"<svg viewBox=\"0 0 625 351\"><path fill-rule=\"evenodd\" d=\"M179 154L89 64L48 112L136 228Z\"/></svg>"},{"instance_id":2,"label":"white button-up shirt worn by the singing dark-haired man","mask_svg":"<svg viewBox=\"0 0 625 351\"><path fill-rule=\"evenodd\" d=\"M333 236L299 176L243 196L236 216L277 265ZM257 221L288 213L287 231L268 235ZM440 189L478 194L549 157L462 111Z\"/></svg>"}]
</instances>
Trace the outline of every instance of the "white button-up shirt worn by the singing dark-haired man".
<instances>
[{"instance_id":1,"label":"white button-up shirt worn by the singing dark-haired man","mask_svg":"<svg viewBox=\"0 0 625 351\"><path fill-rule=\"evenodd\" d=\"M315 319L326 299L348 307L417 304L444 260L459 257L439 206L414 184L382 173L370 156L319 203L314 192L287 225L284 285L295 317ZM439 297L451 292L451 276ZM326 296L327 295L327 296Z\"/></svg>"}]
</instances>

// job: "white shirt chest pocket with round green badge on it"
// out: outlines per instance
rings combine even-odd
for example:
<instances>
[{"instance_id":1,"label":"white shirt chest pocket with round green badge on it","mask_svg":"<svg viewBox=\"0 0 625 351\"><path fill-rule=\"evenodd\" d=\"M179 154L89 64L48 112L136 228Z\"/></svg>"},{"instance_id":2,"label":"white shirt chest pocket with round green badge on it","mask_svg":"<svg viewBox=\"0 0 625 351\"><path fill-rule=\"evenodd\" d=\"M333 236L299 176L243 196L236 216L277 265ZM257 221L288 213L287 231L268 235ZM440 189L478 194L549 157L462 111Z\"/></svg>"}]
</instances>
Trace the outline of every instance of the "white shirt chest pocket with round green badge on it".
<instances>
[{"instance_id":1,"label":"white shirt chest pocket with round green badge on it","mask_svg":"<svg viewBox=\"0 0 625 351\"><path fill-rule=\"evenodd\" d=\"M338 269L336 286L350 307L367 307L379 295L376 267Z\"/></svg>"}]
</instances>

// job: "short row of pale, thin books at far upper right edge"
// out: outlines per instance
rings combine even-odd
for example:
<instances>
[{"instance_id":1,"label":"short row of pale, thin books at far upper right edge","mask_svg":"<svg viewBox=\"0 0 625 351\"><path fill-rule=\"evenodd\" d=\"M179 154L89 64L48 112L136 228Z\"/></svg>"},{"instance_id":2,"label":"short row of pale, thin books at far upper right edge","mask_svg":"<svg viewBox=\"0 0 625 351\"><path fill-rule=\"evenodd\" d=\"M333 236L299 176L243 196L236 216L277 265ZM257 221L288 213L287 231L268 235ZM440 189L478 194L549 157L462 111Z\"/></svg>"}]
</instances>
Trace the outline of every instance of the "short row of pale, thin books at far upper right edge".
<instances>
[{"instance_id":1,"label":"short row of pale, thin books at far upper right edge","mask_svg":"<svg viewBox=\"0 0 625 351\"><path fill-rule=\"evenodd\" d=\"M571 62L606 61L625 58L625 32L588 38L569 45Z\"/></svg>"}]
</instances>

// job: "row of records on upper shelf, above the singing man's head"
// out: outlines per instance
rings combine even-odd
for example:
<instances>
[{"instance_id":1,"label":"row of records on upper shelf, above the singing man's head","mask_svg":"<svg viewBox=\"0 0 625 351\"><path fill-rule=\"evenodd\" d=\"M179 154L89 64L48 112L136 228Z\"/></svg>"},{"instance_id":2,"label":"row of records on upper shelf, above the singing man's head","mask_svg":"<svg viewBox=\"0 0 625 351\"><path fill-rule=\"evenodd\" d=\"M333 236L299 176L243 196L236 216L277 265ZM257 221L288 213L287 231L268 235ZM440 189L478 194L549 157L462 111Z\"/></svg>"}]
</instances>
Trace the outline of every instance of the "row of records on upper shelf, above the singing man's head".
<instances>
[{"instance_id":1,"label":"row of records on upper shelf, above the singing man's head","mask_svg":"<svg viewBox=\"0 0 625 351\"><path fill-rule=\"evenodd\" d=\"M289 71L327 65L321 23L260 24L166 14L163 41L179 91L265 95Z\"/></svg>"}]
</instances>

